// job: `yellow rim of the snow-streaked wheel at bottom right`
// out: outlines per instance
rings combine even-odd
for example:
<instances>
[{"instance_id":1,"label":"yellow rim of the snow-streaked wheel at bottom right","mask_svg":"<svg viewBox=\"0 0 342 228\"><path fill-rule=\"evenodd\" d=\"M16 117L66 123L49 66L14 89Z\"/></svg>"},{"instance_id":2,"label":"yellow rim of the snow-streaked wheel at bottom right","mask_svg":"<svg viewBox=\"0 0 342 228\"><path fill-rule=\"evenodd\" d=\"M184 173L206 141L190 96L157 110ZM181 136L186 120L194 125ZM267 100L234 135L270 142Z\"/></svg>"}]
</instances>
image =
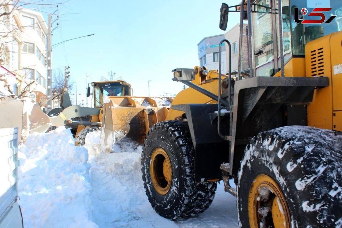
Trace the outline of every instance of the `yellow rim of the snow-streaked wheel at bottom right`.
<instances>
[{"instance_id":1,"label":"yellow rim of the snow-streaked wheel at bottom right","mask_svg":"<svg viewBox=\"0 0 342 228\"><path fill-rule=\"evenodd\" d=\"M290 212L277 182L270 176L257 176L248 195L248 217L251 228L289 228Z\"/></svg>"}]
</instances>

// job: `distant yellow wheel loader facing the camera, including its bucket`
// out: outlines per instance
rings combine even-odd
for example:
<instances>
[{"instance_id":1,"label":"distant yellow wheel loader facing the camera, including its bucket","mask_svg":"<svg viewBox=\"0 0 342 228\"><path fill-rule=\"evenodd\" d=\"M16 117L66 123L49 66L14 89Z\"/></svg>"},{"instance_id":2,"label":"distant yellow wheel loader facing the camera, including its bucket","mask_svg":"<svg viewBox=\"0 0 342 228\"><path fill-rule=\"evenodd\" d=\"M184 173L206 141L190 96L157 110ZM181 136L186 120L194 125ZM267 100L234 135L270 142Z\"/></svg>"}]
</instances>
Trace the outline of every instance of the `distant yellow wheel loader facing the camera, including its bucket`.
<instances>
[{"instance_id":1,"label":"distant yellow wheel loader facing the camera, including its bucket","mask_svg":"<svg viewBox=\"0 0 342 228\"><path fill-rule=\"evenodd\" d=\"M101 151L111 152L114 140L119 144L142 144L148 129L165 120L172 98L131 96L131 85L126 81L91 83L94 108L72 106L68 90L62 89L51 99L61 96L60 108L52 109L52 126L69 126L76 144L84 145L86 135L101 131ZM91 88L87 90L90 96ZM44 105L44 101L41 105ZM114 139L115 132L120 138Z\"/></svg>"}]
</instances>

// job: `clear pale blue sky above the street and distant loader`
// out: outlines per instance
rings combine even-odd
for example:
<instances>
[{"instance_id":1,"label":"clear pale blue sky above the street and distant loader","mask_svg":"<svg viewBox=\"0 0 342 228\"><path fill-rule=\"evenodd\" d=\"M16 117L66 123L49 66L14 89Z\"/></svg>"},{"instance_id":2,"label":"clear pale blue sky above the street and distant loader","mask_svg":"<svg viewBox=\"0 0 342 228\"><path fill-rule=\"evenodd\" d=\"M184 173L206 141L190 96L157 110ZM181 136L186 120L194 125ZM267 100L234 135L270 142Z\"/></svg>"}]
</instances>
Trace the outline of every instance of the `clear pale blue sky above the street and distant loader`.
<instances>
[{"instance_id":1,"label":"clear pale blue sky above the street and distant loader","mask_svg":"<svg viewBox=\"0 0 342 228\"><path fill-rule=\"evenodd\" d=\"M219 29L221 3L70 0L59 5L60 26L53 31L52 44L96 35L54 47L52 68L64 72L64 66L69 65L78 94L85 93L86 73L91 75L88 82L98 81L109 78L111 70L131 83L135 96L148 95L148 80L152 80L151 96L177 93L183 84L171 80L171 70L198 65L197 43L204 37L224 33ZM239 1L226 3L235 5ZM237 23L238 13L231 13L228 29Z\"/></svg>"}]
</instances>

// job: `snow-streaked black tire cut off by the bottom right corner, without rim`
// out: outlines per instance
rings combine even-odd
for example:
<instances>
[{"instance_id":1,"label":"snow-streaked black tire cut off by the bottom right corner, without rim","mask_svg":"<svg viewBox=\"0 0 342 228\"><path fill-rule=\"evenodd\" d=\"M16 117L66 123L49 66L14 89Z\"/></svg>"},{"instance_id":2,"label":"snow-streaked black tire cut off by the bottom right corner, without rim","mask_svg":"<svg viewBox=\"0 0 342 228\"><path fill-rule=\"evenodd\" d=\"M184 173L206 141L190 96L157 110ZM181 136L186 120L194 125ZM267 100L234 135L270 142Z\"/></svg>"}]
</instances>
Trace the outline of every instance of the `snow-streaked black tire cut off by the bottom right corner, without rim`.
<instances>
[{"instance_id":1,"label":"snow-streaked black tire cut off by the bottom right corner, without rim","mask_svg":"<svg viewBox=\"0 0 342 228\"><path fill-rule=\"evenodd\" d=\"M341 227L341 142L342 136L334 131L307 126L282 127L251 139L237 185L240 226L251 225L249 192L255 178L265 174L285 196L291 227ZM273 227L268 222L263 226Z\"/></svg>"}]
</instances>

